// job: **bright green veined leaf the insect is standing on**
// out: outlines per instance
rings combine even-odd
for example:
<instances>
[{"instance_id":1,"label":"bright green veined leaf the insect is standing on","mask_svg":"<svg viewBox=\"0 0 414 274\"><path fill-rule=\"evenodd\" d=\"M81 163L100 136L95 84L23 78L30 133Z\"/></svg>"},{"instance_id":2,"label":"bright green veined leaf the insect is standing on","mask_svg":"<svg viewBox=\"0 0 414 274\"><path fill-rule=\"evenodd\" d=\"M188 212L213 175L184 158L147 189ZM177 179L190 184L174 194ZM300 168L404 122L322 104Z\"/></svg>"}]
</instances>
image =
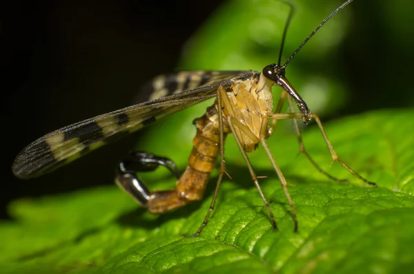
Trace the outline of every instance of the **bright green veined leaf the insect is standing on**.
<instances>
[{"instance_id":1,"label":"bright green veined leaf the insect is standing on","mask_svg":"<svg viewBox=\"0 0 414 274\"><path fill-rule=\"evenodd\" d=\"M262 189L279 231L246 179L246 167L233 163L239 151L228 146L233 180L225 178L200 237L184 235L204 219L217 174L202 202L159 216L137 209L115 186L17 200L10 204L14 221L0 225L2 273L404 273L414 265L413 115L389 110L326 124L338 155L377 188L337 164L328 171L351 184L331 182L297 156L294 134L268 139L289 183L299 233L293 233L290 208L266 158L258 153L252 162L259 175L268 176ZM303 137L309 153L328 167L317 127ZM174 184L164 179L155 187Z\"/></svg>"}]
</instances>

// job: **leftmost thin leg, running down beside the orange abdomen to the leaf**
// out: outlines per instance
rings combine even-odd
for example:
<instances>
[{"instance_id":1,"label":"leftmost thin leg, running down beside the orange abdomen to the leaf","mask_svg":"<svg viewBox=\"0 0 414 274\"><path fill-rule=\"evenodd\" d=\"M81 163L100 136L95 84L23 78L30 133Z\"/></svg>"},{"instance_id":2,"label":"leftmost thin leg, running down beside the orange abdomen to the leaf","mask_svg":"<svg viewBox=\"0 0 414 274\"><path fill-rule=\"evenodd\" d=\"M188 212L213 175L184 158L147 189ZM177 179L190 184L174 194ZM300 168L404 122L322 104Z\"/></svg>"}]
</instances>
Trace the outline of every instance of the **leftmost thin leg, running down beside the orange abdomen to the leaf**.
<instances>
[{"instance_id":1,"label":"leftmost thin leg, running down beside the orange abdomen to the leaf","mask_svg":"<svg viewBox=\"0 0 414 274\"><path fill-rule=\"evenodd\" d=\"M213 200L211 200L210 207L208 208L208 211L206 213L206 216L204 217L203 222L199 226L199 229L197 229L197 232L191 235L192 237L197 237L200 235L201 231L203 231L204 226L207 225L208 219L210 218L211 212L213 212L213 209L215 207L215 202L217 200L217 196L219 194L219 189L221 185L221 181L223 180L223 174L226 173L226 160L225 160L225 154L224 154L224 129L223 129L223 112L221 111L221 96L220 93L226 96L226 91L224 90L224 87L219 87L217 89L217 105L218 105L218 114L219 114L219 127L220 127L220 171L219 171L219 178L217 178L215 191L213 194ZM227 98L227 96L226 96Z\"/></svg>"}]
</instances>

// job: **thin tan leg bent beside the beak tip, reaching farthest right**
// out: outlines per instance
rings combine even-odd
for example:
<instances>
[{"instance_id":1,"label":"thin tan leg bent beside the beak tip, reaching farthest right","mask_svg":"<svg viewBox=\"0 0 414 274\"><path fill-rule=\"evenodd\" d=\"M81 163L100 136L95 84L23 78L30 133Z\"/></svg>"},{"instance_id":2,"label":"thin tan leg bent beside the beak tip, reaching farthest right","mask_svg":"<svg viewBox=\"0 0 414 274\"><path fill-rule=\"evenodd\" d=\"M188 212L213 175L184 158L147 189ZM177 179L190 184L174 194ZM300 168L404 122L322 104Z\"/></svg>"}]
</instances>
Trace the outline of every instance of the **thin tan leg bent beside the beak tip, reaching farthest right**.
<instances>
[{"instance_id":1,"label":"thin tan leg bent beside the beak tip, reaching farthest right","mask_svg":"<svg viewBox=\"0 0 414 274\"><path fill-rule=\"evenodd\" d=\"M297 119L297 118L302 118L302 114L297 113L297 112L295 112L295 113L291 112L291 113L281 113L281 114L270 114L268 117L272 118L272 119L276 119L276 120ZM328 147L329 151L331 152L331 156L332 156L333 161L339 162L339 164L342 165L342 167L344 167L346 170L348 170L351 174L353 174L353 176L357 177L359 180L362 180L366 184L371 185L373 187L377 187L377 184L375 184L375 182L371 182L371 181L366 180L364 177L360 176L356 171L351 169L351 167L348 167L348 165L346 165L344 162L342 162L342 160L339 159L339 157L337 156L335 150L333 149L333 147L331 145L331 142L328 140L328 136L326 136L325 129L322 126L322 122L319 119L319 116L317 116L317 114L313 113L313 114L311 114L311 118L315 119L315 121L316 121L316 123L319 127L319 130L321 131L322 136L324 137L326 146Z\"/></svg>"}]
</instances>

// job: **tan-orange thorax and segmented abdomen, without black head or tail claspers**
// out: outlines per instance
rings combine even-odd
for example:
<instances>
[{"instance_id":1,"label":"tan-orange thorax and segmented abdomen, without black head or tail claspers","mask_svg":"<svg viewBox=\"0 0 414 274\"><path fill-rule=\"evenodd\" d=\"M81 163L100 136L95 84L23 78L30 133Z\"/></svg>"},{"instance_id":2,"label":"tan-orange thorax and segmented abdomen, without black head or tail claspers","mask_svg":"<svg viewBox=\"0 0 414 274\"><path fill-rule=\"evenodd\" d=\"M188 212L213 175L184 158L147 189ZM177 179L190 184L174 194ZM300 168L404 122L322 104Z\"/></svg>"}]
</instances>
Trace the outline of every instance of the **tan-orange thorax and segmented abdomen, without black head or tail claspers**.
<instances>
[{"instance_id":1,"label":"tan-orange thorax and segmented abdomen, without black head or tail claspers","mask_svg":"<svg viewBox=\"0 0 414 274\"><path fill-rule=\"evenodd\" d=\"M193 200L200 200L215 169L220 153L220 131L224 138L231 132L228 117L235 118L248 131L236 129L233 134L241 140L244 151L254 151L260 140L268 137L268 114L273 107L272 83L260 74L259 78L233 83L232 90L219 87L222 102L222 121L219 119L217 99L206 114L194 120L197 134L193 139L193 151L188 158L188 167L177 181L177 187L167 191L154 191L148 201L148 211L164 213L182 207Z\"/></svg>"}]
</instances>

